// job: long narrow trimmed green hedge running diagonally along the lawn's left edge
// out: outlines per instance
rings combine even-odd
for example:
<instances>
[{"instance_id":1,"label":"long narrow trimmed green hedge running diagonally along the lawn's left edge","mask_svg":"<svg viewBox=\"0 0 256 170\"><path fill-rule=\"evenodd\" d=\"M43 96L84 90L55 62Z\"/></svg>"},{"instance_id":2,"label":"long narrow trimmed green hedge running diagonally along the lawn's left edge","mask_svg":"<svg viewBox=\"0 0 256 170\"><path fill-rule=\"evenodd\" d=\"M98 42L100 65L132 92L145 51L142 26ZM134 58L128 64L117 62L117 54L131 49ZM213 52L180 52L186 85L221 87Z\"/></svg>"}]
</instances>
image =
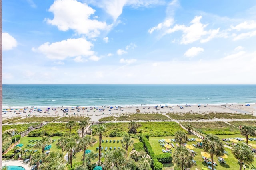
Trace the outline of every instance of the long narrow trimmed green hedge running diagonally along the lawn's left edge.
<instances>
[{"instance_id":1,"label":"long narrow trimmed green hedge running diagonally along the lawn's left edge","mask_svg":"<svg viewBox=\"0 0 256 170\"><path fill-rule=\"evenodd\" d=\"M154 170L162 170L163 169L163 164L158 162L156 155L147 139L147 137L144 134L140 134L140 141L144 144L144 147L146 148L146 152L151 156L152 159L152 165Z\"/></svg>"}]
</instances>

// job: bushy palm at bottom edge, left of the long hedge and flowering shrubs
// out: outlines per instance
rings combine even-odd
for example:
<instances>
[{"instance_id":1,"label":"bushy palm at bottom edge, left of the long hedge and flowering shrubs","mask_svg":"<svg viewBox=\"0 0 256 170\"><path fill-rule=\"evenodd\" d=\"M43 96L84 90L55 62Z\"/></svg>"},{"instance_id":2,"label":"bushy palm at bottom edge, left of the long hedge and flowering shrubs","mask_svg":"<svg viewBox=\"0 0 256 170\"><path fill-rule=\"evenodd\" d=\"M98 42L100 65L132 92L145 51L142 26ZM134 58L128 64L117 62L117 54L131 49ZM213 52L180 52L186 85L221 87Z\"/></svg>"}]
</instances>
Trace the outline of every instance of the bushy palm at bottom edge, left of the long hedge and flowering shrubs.
<instances>
[{"instance_id":1,"label":"bushy palm at bottom edge, left of the long hedge and flowering shrubs","mask_svg":"<svg viewBox=\"0 0 256 170\"><path fill-rule=\"evenodd\" d=\"M125 151L116 149L106 153L105 161L106 169L121 170L126 164Z\"/></svg>"}]
</instances>

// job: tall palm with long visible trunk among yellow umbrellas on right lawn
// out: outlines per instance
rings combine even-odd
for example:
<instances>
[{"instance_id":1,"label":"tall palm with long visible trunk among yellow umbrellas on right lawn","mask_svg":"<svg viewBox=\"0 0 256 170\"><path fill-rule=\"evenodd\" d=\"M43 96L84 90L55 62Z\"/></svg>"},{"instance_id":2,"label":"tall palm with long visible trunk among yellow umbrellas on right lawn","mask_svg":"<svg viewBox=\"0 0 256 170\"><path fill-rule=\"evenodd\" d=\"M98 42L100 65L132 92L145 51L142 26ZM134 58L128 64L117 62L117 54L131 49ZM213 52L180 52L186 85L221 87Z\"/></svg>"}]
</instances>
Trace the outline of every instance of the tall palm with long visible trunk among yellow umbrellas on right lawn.
<instances>
[{"instance_id":1,"label":"tall palm with long visible trunk among yellow umbrellas on right lawn","mask_svg":"<svg viewBox=\"0 0 256 170\"><path fill-rule=\"evenodd\" d=\"M213 155L222 156L224 153L223 143L220 141L220 138L216 135L208 134L204 138L204 151L210 153L211 159L213 160ZM213 161L212 161L213 169Z\"/></svg>"}]
</instances>

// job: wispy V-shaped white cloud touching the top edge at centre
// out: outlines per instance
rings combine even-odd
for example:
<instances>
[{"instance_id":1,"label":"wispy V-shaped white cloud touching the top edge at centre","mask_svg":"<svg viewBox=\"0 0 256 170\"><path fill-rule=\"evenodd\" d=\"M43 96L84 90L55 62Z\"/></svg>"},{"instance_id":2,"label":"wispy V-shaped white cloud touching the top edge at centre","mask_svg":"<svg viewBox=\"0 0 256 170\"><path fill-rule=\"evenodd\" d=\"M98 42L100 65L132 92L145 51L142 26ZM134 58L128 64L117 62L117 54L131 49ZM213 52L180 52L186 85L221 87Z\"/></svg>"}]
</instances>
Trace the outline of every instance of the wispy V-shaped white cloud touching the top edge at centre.
<instances>
[{"instance_id":1,"label":"wispy V-shaped white cloud touching the top edge at centre","mask_svg":"<svg viewBox=\"0 0 256 170\"><path fill-rule=\"evenodd\" d=\"M164 0L91 0L90 3L103 8L114 22L122 14L124 6L139 8L165 4Z\"/></svg>"}]
</instances>

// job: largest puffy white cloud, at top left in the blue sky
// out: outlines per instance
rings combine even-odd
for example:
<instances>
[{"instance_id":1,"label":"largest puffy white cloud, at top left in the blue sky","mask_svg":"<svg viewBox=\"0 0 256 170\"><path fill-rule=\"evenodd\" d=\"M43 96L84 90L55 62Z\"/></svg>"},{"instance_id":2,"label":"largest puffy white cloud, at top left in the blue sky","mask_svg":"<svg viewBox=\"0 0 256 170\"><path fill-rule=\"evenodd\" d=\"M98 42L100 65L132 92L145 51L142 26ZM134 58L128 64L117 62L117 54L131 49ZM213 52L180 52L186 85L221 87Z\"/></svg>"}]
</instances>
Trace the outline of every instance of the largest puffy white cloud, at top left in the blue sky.
<instances>
[{"instance_id":1,"label":"largest puffy white cloud, at top left in the blue sky","mask_svg":"<svg viewBox=\"0 0 256 170\"><path fill-rule=\"evenodd\" d=\"M112 27L106 22L91 20L90 16L95 10L86 3L76 0L55 0L49 11L54 14L54 18L52 20L47 18L47 23L56 25L61 31L73 29L78 34L97 37L100 30L109 30Z\"/></svg>"}]
</instances>

